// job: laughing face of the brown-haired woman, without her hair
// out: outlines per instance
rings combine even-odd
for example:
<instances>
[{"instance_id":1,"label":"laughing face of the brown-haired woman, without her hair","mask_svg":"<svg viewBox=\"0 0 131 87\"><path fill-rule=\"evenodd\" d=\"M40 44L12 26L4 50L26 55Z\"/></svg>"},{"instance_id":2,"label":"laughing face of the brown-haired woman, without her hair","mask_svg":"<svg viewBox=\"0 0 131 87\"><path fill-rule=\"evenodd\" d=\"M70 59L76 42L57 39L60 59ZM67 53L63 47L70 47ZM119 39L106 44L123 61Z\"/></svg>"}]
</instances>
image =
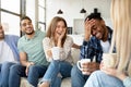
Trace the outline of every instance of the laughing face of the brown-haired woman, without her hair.
<instances>
[{"instance_id":1,"label":"laughing face of the brown-haired woman, without her hair","mask_svg":"<svg viewBox=\"0 0 131 87\"><path fill-rule=\"evenodd\" d=\"M64 25L64 22L63 22L63 21L59 21L59 22L57 23L57 26L56 26L56 29L55 29L55 37L56 37L56 38L59 38L60 35L61 35L63 32L66 32L66 29L67 29L67 27L66 27L66 25Z\"/></svg>"}]
</instances>

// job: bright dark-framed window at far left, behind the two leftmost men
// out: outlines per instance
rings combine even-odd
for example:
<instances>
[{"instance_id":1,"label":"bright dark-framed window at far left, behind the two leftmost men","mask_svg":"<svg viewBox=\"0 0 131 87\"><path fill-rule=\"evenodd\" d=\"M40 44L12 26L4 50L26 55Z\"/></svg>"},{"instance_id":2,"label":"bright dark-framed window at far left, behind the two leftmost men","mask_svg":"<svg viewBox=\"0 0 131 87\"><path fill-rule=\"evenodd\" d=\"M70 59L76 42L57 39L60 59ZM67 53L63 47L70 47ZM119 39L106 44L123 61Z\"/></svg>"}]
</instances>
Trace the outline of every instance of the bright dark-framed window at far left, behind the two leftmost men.
<instances>
[{"instance_id":1,"label":"bright dark-framed window at far left, behind the two leftmost men","mask_svg":"<svg viewBox=\"0 0 131 87\"><path fill-rule=\"evenodd\" d=\"M24 0L0 0L0 22L7 27L5 34L20 36L20 18Z\"/></svg>"}]
</instances>

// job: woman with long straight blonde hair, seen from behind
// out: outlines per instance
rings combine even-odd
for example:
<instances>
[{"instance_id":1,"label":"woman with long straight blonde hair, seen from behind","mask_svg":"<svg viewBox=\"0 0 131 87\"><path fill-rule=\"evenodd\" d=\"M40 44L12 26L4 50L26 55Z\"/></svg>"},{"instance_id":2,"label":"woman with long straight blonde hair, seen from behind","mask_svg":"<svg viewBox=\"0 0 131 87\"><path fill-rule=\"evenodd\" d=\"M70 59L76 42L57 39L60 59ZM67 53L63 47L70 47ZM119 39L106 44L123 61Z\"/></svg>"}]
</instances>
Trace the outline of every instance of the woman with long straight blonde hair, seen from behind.
<instances>
[{"instance_id":1,"label":"woman with long straight blonde hair, seen from behind","mask_svg":"<svg viewBox=\"0 0 131 87\"><path fill-rule=\"evenodd\" d=\"M131 87L131 0L112 0L111 17L114 37L111 48L116 44L116 67L94 72L84 87Z\"/></svg>"}]
</instances>

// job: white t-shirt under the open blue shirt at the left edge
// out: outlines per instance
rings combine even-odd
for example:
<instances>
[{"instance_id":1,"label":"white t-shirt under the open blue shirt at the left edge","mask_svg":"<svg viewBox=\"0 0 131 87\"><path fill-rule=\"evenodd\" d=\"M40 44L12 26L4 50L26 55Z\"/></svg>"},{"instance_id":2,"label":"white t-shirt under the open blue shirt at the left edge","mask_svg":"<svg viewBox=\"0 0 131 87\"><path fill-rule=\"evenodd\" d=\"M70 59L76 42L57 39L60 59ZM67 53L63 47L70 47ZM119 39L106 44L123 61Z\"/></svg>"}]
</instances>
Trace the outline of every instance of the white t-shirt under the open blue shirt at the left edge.
<instances>
[{"instance_id":1,"label":"white t-shirt under the open blue shirt at the left edge","mask_svg":"<svg viewBox=\"0 0 131 87\"><path fill-rule=\"evenodd\" d=\"M0 63L3 62L16 62L11 48L4 40L0 40Z\"/></svg>"}]
</instances>

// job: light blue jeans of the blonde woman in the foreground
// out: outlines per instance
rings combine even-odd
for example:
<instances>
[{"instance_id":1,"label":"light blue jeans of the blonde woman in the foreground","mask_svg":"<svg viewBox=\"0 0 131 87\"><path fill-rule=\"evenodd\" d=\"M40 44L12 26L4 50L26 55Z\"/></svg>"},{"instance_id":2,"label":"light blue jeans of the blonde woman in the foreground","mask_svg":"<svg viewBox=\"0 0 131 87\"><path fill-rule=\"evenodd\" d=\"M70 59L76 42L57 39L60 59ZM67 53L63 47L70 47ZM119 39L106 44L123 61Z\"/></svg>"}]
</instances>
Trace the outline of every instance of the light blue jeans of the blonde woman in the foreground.
<instances>
[{"instance_id":1,"label":"light blue jeans of the blonde woman in the foreground","mask_svg":"<svg viewBox=\"0 0 131 87\"><path fill-rule=\"evenodd\" d=\"M109 76L102 71L91 74L84 87L124 87L122 82L114 76Z\"/></svg>"}]
</instances>

